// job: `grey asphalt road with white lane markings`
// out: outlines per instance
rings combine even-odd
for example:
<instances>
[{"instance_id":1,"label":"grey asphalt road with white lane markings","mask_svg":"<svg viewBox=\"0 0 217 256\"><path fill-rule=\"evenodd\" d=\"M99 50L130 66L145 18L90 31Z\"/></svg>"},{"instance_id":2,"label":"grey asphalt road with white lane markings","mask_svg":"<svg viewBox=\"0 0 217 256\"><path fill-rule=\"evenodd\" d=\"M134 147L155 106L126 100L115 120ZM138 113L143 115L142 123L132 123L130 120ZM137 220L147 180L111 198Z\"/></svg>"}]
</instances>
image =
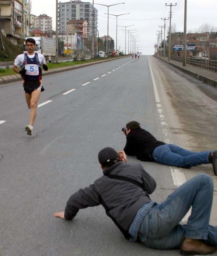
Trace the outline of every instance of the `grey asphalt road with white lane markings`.
<instances>
[{"instance_id":1,"label":"grey asphalt road with white lane markings","mask_svg":"<svg viewBox=\"0 0 217 256\"><path fill-rule=\"evenodd\" d=\"M0 86L0 255L179 255L125 240L101 206L80 210L71 222L53 213L102 175L98 152L106 146L123 149L121 128L129 121L140 122L158 140L215 150L217 90L151 56L46 76L43 86L39 104L49 102L39 105L31 137L24 130L29 110L21 83ZM151 196L157 202L185 180L211 175L216 225L217 182L210 164L141 164L157 181Z\"/></svg>"}]
</instances>

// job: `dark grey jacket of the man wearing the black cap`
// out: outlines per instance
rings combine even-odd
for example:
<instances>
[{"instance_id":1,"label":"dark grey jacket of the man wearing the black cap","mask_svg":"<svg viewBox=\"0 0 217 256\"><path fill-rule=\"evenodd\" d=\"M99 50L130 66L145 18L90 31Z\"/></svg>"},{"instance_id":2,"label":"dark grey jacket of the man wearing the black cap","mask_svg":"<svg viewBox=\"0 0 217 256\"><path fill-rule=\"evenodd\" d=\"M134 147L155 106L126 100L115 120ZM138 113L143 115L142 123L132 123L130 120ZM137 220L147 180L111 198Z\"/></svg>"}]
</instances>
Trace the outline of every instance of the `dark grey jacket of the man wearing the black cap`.
<instances>
[{"instance_id":1,"label":"dark grey jacket of the man wearing the black cap","mask_svg":"<svg viewBox=\"0 0 217 256\"><path fill-rule=\"evenodd\" d=\"M105 208L106 214L129 239L128 230L135 215L142 205L151 201L149 194L155 190L156 182L141 164L131 165L117 162L111 167L104 168L103 174L89 187L78 190L68 199L64 217L66 220L72 220L79 209L101 204ZM127 181L111 179L106 176L107 174L121 175L137 180L146 191Z\"/></svg>"}]
</instances>

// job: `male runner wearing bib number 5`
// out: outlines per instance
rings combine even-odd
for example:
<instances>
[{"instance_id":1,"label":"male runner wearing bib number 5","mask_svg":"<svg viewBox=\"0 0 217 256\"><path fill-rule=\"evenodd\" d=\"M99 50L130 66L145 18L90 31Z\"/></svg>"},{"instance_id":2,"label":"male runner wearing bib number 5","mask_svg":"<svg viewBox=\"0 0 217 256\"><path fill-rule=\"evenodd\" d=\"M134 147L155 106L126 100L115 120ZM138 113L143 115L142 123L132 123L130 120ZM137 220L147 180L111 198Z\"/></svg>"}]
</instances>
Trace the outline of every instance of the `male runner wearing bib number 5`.
<instances>
[{"instance_id":1,"label":"male runner wearing bib number 5","mask_svg":"<svg viewBox=\"0 0 217 256\"><path fill-rule=\"evenodd\" d=\"M41 65L45 71L48 70L45 58L40 53L35 53L35 39L27 38L26 41L27 53L20 54L14 61L13 70L19 73L23 78L23 89L25 98L30 111L29 125L26 125L25 130L28 135L32 135L33 125L37 115L38 100L41 92L44 91L41 82ZM21 66L21 70L17 67Z\"/></svg>"}]
</instances>

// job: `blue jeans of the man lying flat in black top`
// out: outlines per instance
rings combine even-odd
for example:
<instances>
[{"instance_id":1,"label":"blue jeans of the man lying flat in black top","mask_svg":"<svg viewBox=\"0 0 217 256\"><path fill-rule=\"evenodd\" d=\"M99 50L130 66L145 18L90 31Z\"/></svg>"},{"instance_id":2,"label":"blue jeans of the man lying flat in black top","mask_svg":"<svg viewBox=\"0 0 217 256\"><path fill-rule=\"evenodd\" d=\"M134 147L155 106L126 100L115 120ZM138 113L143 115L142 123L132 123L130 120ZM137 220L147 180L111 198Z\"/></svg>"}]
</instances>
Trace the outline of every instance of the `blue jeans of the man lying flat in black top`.
<instances>
[{"instance_id":1,"label":"blue jeans of the man lying flat in black top","mask_svg":"<svg viewBox=\"0 0 217 256\"><path fill-rule=\"evenodd\" d=\"M198 164L210 163L208 160L210 152L192 152L173 144L165 144L156 147L152 157L158 163L190 168Z\"/></svg>"}]
</instances>

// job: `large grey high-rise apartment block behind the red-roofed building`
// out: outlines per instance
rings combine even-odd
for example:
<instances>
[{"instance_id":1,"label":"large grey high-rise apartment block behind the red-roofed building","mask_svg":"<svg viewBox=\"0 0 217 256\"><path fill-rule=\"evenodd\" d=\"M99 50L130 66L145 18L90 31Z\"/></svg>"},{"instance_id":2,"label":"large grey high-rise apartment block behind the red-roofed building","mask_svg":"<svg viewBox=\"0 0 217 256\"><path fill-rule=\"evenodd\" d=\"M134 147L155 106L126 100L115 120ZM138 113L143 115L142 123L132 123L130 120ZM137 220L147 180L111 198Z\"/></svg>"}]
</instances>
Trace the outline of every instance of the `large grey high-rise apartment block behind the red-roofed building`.
<instances>
[{"instance_id":1,"label":"large grey high-rise apartment block behind the red-roofed building","mask_svg":"<svg viewBox=\"0 0 217 256\"><path fill-rule=\"evenodd\" d=\"M58 33L65 35L67 33L67 22L70 20L86 19L89 23L87 28L88 37L92 36L92 15L94 14L94 27L98 27L97 9L89 2L80 0L58 3ZM96 29L94 35L97 35Z\"/></svg>"}]
</instances>

